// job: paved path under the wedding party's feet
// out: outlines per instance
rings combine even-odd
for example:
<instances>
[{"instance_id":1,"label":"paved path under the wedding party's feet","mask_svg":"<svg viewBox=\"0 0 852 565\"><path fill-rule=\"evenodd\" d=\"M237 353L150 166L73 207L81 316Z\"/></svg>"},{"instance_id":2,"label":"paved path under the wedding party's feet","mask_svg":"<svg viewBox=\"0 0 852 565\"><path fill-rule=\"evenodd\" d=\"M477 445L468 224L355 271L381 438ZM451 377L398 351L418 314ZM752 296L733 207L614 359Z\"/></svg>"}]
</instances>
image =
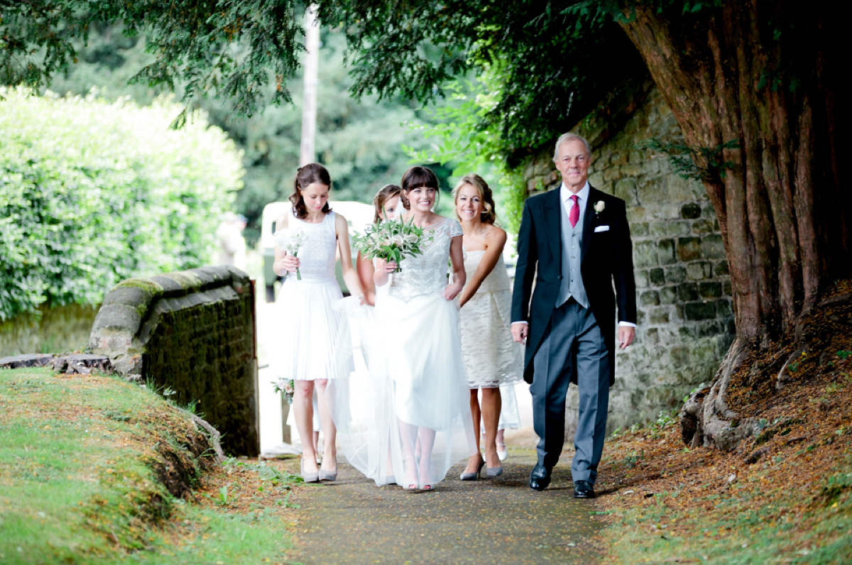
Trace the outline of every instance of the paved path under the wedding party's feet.
<instances>
[{"instance_id":1,"label":"paved path under the wedding party's feet","mask_svg":"<svg viewBox=\"0 0 852 565\"><path fill-rule=\"evenodd\" d=\"M563 455L563 458L565 456ZM570 458L567 458L570 461ZM527 486L531 448L511 449L504 474L458 481L451 470L434 492L377 487L342 464L335 482L296 489L295 551L304 563L590 563L601 524L592 500L572 498L570 465L556 467L550 488ZM298 459L286 466L298 470Z\"/></svg>"}]
</instances>

